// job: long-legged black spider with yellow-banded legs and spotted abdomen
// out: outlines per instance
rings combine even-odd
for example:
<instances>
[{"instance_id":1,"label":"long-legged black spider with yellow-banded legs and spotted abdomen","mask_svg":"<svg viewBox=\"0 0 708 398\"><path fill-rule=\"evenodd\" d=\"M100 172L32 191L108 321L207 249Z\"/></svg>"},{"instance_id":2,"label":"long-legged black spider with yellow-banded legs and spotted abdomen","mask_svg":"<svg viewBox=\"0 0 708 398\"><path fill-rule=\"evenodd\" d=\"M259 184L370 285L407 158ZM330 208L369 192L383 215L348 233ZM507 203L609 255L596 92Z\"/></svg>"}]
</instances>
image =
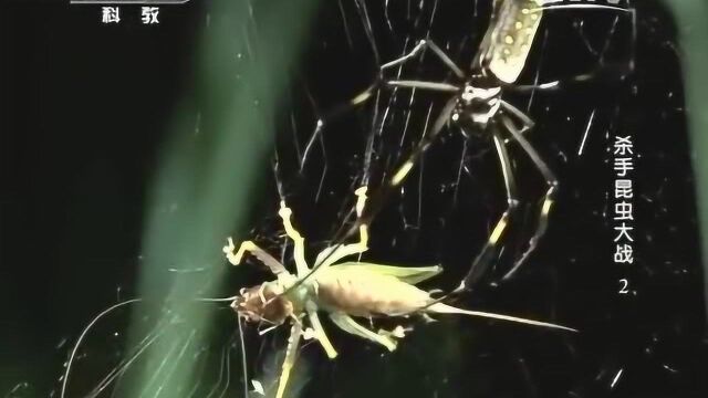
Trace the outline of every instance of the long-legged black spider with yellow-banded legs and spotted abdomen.
<instances>
[{"instance_id":1,"label":"long-legged black spider with yellow-banded legs and spotted abdomen","mask_svg":"<svg viewBox=\"0 0 708 398\"><path fill-rule=\"evenodd\" d=\"M482 140L493 143L497 158L501 168L501 175L506 188L507 208L497 220L489 238L480 253L472 261L471 268L452 293L469 290L487 268L493 262L496 253L500 250L500 243L506 235L513 216L520 210L521 199L517 190L512 158L507 149L511 143L517 143L528 156L535 169L543 177L546 189L535 217L535 229L525 244L525 249L517 256L511 268L503 273L501 281L512 277L519 268L529 259L545 234L549 217L559 192L559 180L548 166L545 160L537 151L533 145L524 137L532 129L534 122L524 112L503 100L506 92L528 93L538 91L555 91L566 83L577 83L593 80L604 72L605 67L598 65L596 70L566 78L534 85L520 85L517 80L524 69L527 59L532 48L533 39L539 29L543 10L564 8L592 8L601 10L623 11L632 14L635 24L634 9L603 4L564 4L544 6L544 0L493 0L492 17L489 28L482 39L469 72L460 69L435 42L420 40L417 45L405 55L387 62L379 67L378 81L363 93L350 101L350 105L360 105L371 98L374 92L383 86L394 88L423 90L438 93L447 93L449 100L442 106L440 114L433 123L430 132L408 155L406 161L395 169L392 177L379 187L381 196L375 199L376 205L363 214L360 222L371 222L375 212L381 208L383 197L395 188L400 187L406 177L416 166L418 159L434 143L437 135L445 126L455 126L461 134L469 138L476 136ZM633 31L633 35L636 32ZM634 45L634 44L633 44ZM417 80L387 80L386 71L400 67L406 62L429 50L458 80L458 83L427 82ZM634 50L632 50L634 51ZM620 73L623 78L634 69L633 62L623 66L625 72ZM321 128L320 121L317 127ZM315 133L319 130L315 130ZM313 135L314 137L314 135ZM346 235L355 233L357 226L346 232Z\"/></svg>"}]
</instances>

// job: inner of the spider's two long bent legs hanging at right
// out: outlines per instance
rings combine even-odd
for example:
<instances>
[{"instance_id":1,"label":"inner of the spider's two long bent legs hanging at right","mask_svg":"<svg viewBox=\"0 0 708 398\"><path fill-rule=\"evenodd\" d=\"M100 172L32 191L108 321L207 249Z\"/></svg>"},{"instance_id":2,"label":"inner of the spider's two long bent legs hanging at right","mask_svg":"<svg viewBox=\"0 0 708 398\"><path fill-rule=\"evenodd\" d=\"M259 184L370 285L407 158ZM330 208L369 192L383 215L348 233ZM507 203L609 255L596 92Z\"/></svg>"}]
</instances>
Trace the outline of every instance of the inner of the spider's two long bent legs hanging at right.
<instances>
[{"instance_id":1,"label":"inner of the spider's two long bent legs hanging at right","mask_svg":"<svg viewBox=\"0 0 708 398\"><path fill-rule=\"evenodd\" d=\"M503 138L501 138L497 125L492 124L490 125L490 128L492 128L492 138L494 140L499 165L501 166L501 172L504 179L504 188L507 190L507 210L504 210L499 218L499 221L497 221L494 229L489 235L489 240L472 262L472 266L469 272L465 275L460 285L455 289L452 293L459 293L470 289L470 286L472 286L473 283L485 274L498 252L499 242L509 224L511 216L519 208L517 184L513 177L513 168L511 166L509 153L507 151L507 146L504 145Z\"/></svg>"}]
</instances>

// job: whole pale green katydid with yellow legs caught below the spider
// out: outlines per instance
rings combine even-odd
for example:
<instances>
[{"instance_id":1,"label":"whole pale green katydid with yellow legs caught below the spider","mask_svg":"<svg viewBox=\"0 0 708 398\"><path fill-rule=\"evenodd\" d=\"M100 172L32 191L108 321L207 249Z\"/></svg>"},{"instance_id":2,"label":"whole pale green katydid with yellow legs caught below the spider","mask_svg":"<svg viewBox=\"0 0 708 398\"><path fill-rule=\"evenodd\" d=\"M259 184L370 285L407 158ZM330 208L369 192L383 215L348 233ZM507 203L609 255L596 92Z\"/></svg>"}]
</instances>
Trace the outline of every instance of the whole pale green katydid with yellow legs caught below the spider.
<instances>
[{"instance_id":1,"label":"whole pale green katydid with yellow legs caught below the spider","mask_svg":"<svg viewBox=\"0 0 708 398\"><path fill-rule=\"evenodd\" d=\"M356 214L361 217L366 203L366 187L355 191ZM277 327L291 321L290 337L278 381L275 398L282 398L294 366L298 347L302 338L314 338L324 348L327 357L334 359L337 352L327 338L317 312L325 311L330 320L342 331L363 337L393 352L397 339L407 331L397 326L392 331L371 331L354 317L407 317L433 314L461 314L522 323L527 325L577 332L571 327L532 321L516 316L458 308L435 300L429 292L415 286L442 270L440 266L394 266L367 262L342 262L347 256L367 251L368 226L358 227L360 240L355 243L339 244L322 250L315 258L313 268L305 260L305 240L293 227L292 210L281 201L280 211L285 234L293 241L293 258L296 275L266 250L252 241L244 241L238 251L231 238L223 248L228 261L238 265L248 252L262 262L275 280L242 289L231 307L239 317L249 322L267 323ZM305 318L311 327L304 326Z\"/></svg>"}]
</instances>

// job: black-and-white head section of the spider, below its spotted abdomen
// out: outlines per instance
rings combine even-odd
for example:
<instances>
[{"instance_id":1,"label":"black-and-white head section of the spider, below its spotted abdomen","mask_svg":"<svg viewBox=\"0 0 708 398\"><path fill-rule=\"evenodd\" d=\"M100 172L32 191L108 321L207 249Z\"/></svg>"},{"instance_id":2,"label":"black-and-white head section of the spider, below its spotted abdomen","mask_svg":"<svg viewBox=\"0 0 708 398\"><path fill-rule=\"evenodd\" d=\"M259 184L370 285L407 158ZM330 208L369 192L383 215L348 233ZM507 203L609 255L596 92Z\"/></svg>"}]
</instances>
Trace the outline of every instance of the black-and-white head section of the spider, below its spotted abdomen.
<instances>
[{"instance_id":1,"label":"black-and-white head section of the spider, below its spotted abdomen","mask_svg":"<svg viewBox=\"0 0 708 398\"><path fill-rule=\"evenodd\" d=\"M501 87L479 87L472 82L465 84L457 106L452 109L452 122L472 123L482 127L489 123L501 105Z\"/></svg>"}]
</instances>

